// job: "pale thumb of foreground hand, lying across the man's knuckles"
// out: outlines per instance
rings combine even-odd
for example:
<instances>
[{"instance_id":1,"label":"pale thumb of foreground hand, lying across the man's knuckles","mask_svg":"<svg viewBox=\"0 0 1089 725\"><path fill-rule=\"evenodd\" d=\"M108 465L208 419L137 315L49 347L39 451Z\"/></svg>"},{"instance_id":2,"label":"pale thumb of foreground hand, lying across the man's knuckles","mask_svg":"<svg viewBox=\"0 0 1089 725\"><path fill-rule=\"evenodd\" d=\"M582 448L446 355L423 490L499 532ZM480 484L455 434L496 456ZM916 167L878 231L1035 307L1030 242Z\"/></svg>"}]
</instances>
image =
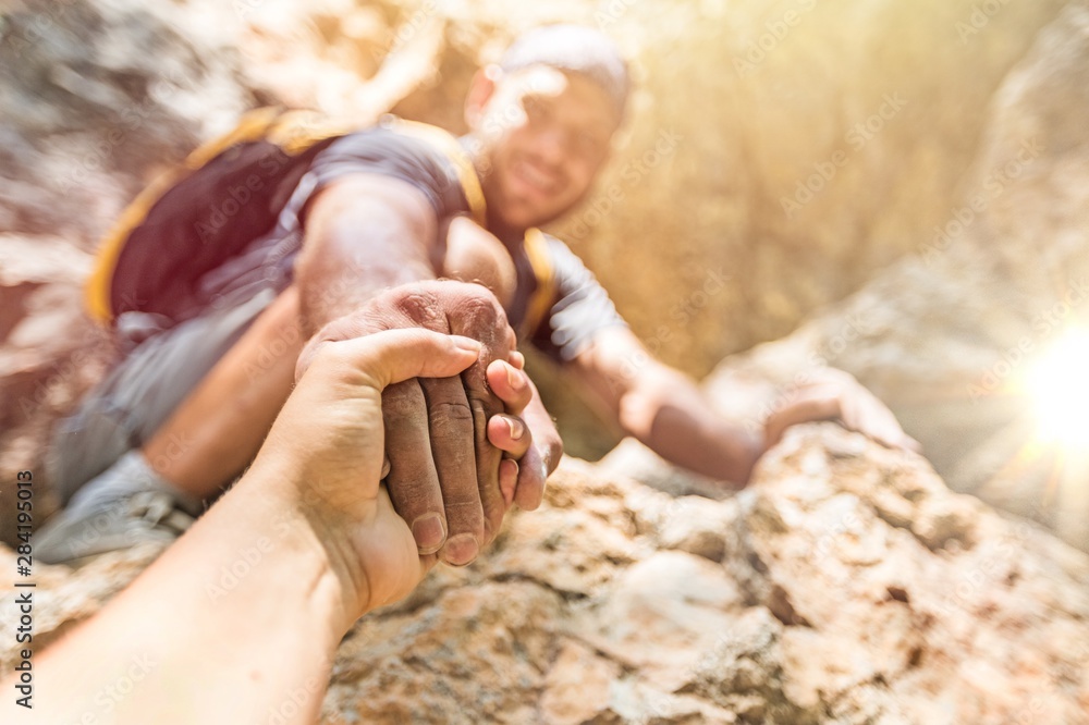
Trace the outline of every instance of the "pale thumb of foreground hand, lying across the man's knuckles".
<instances>
[{"instance_id":1,"label":"pale thumb of foreground hand, lying across the man's knuckles","mask_svg":"<svg viewBox=\"0 0 1089 725\"><path fill-rule=\"evenodd\" d=\"M328 365L360 372L381 392L411 378L455 376L477 360L480 347L472 337L409 328L320 343L307 362L308 367Z\"/></svg>"}]
</instances>

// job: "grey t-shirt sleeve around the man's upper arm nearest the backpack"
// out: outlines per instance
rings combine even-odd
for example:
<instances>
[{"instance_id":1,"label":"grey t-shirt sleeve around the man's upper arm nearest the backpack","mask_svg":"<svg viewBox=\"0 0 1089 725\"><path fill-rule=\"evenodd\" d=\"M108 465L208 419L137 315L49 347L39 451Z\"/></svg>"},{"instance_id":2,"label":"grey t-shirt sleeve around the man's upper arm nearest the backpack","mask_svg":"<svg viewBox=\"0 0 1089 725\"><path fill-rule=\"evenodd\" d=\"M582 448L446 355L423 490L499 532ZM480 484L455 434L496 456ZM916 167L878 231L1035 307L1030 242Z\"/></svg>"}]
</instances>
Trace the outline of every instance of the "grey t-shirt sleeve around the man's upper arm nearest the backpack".
<instances>
[{"instance_id":1,"label":"grey t-shirt sleeve around the man's upper arm nearest the backpack","mask_svg":"<svg viewBox=\"0 0 1089 725\"><path fill-rule=\"evenodd\" d=\"M381 126L338 138L321 151L299 181L289 213L299 221L310 199L327 184L350 174L378 174L406 182L427 198L439 219L468 211L453 162L424 139Z\"/></svg>"}]
</instances>

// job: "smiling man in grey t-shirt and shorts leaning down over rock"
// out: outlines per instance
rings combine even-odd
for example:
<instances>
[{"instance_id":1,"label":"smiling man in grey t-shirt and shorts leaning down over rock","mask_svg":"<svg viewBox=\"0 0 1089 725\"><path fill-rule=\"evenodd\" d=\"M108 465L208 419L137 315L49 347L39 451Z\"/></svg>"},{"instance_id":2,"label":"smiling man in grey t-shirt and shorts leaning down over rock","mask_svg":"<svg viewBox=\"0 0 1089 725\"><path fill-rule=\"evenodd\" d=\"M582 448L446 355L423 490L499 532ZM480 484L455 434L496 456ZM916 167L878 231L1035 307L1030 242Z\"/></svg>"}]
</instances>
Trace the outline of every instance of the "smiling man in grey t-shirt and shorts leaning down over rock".
<instances>
[{"instance_id":1,"label":"smiling man in grey t-shirt and shorts leaning down over rock","mask_svg":"<svg viewBox=\"0 0 1089 725\"><path fill-rule=\"evenodd\" d=\"M256 455L315 335L419 327L484 344L460 378L383 394L393 504L420 554L454 565L477 556L512 504L539 505L561 455L516 342L568 370L628 434L730 486L745 486L760 455L803 421L839 419L915 447L888 408L837 371L815 376L762 434L727 422L646 353L578 258L537 231L589 192L628 87L603 35L550 26L477 74L468 135L392 120L327 142L279 199L271 231L196 281L195 306L179 319L115 320L143 339L56 434L50 479L66 507L36 534L38 556L75 562L174 539ZM246 179L256 194L261 179ZM222 207L231 223L256 207L238 188L234 207ZM633 370L632 359L648 361Z\"/></svg>"}]
</instances>

